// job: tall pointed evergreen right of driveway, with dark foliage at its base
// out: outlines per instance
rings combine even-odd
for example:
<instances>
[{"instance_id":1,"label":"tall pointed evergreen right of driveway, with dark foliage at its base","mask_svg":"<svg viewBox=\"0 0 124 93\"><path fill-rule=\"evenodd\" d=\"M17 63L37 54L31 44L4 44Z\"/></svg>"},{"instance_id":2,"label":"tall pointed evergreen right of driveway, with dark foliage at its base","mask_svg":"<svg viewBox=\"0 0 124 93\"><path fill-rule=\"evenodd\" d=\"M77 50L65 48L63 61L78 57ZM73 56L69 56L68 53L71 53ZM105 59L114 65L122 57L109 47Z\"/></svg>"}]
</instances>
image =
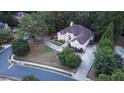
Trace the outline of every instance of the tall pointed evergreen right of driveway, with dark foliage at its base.
<instances>
[{"instance_id":1,"label":"tall pointed evergreen right of driveway, with dark foliage at its base","mask_svg":"<svg viewBox=\"0 0 124 93\"><path fill-rule=\"evenodd\" d=\"M114 54L113 24L110 23L97 46L95 69L96 73L111 75L112 72L121 68L121 60Z\"/></svg>"}]
</instances>

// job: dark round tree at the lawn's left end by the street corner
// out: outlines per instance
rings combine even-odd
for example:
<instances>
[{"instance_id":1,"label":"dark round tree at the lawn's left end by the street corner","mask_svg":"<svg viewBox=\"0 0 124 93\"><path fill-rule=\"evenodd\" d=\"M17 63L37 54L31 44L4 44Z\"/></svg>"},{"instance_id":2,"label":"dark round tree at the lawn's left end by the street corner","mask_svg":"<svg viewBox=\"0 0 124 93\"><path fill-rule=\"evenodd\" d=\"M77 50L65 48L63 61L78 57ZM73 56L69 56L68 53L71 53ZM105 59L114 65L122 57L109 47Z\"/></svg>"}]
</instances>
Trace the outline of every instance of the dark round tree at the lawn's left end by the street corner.
<instances>
[{"instance_id":1,"label":"dark round tree at the lawn's left end by the street corner","mask_svg":"<svg viewBox=\"0 0 124 93\"><path fill-rule=\"evenodd\" d=\"M30 46L26 40L17 39L12 44L13 54L16 56L25 56L30 51Z\"/></svg>"}]
</instances>

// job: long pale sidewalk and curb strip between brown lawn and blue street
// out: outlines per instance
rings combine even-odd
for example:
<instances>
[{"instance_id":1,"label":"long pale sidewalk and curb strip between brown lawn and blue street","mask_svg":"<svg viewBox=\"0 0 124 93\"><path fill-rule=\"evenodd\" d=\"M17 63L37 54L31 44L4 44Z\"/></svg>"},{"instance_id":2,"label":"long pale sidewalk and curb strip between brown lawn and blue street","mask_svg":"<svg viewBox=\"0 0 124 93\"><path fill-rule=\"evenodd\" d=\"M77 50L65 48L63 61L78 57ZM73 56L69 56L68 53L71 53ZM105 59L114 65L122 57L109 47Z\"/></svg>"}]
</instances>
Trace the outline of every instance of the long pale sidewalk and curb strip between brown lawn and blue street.
<instances>
[{"instance_id":1,"label":"long pale sidewalk and curb strip between brown lawn and blue street","mask_svg":"<svg viewBox=\"0 0 124 93\"><path fill-rule=\"evenodd\" d=\"M69 76L73 76L75 73L69 72L69 71L65 71L63 69L59 69L59 68L55 68L55 67L51 67L51 66L47 66L47 65L41 65L41 64L37 64L37 63L32 63L32 62L27 62L27 61L19 61L19 60L15 60L14 59L15 55L11 55L8 59L8 61L11 64L19 64L19 65L27 65L27 66L33 66L33 67L40 67L40 68L45 68L48 70L53 70L62 74L66 74Z\"/></svg>"}]
</instances>

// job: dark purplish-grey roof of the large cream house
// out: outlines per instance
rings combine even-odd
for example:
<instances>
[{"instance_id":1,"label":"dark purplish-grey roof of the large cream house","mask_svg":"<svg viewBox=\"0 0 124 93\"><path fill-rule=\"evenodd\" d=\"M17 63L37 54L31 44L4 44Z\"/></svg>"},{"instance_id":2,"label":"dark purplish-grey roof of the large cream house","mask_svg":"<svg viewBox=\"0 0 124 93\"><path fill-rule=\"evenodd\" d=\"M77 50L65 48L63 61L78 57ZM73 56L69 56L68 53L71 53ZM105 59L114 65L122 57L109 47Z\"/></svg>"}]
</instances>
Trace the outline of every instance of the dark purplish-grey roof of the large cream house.
<instances>
[{"instance_id":1,"label":"dark purplish-grey roof of the large cream house","mask_svg":"<svg viewBox=\"0 0 124 93\"><path fill-rule=\"evenodd\" d=\"M81 25L72 25L60 31L61 34L72 33L74 36L78 36L72 41L77 40L80 44L84 44L91 36L94 36L94 33Z\"/></svg>"}]
</instances>

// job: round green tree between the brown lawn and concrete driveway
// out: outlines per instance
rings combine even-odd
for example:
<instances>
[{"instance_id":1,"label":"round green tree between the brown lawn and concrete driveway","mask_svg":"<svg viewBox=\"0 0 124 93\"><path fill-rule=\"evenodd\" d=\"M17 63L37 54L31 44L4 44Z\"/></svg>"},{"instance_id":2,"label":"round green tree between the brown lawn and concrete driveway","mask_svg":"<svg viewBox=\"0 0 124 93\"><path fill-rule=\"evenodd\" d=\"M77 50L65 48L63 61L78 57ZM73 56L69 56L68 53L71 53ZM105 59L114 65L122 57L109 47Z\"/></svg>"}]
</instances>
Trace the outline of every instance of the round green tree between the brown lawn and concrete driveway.
<instances>
[{"instance_id":1,"label":"round green tree between the brown lawn and concrete driveway","mask_svg":"<svg viewBox=\"0 0 124 93\"><path fill-rule=\"evenodd\" d=\"M76 55L72 49L65 48L61 53L58 54L58 57L64 66L69 68L75 68L80 65L81 59Z\"/></svg>"}]
</instances>

